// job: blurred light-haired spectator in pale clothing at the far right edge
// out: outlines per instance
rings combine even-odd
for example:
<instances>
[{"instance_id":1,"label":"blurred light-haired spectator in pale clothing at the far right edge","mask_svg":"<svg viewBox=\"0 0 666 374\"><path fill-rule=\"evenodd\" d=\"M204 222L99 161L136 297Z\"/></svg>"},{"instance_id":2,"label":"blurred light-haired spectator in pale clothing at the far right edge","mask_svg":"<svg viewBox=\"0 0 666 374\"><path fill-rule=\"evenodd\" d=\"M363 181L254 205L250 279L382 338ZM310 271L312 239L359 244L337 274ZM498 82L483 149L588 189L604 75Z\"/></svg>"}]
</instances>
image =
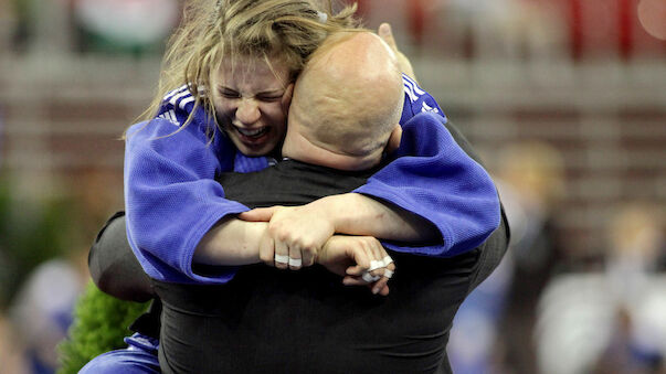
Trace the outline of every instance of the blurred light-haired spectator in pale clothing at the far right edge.
<instances>
[{"instance_id":1,"label":"blurred light-haired spectator in pale clothing at the far right edge","mask_svg":"<svg viewBox=\"0 0 666 374\"><path fill-rule=\"evenodd\" d=\"M660 232L662 214L649 205L630 203L617 209L609 221L605 273L616 314L596 373L658 373L659 368L666 370L666 310L663 310L660 321L646 321L641 310L652 279L658 270L664 270L660 258L666 243Z\"/></svg>"}]
</instances>

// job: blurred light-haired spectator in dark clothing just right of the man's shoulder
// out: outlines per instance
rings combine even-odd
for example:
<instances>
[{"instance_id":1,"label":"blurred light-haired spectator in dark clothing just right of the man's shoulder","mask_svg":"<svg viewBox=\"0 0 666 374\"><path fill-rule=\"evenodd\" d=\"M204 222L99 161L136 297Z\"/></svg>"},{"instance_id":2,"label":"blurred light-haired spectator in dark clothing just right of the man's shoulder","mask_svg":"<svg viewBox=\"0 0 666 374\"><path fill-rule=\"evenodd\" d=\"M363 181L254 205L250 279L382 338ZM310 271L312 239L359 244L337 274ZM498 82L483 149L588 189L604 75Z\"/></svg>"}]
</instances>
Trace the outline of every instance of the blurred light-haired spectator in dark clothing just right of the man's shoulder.
<instances>
[{"instance_id":1,"label":"blurred light-haired spectator in dark clothing just right of the man's shoulder","mask_svg":"<svg viewBox=\"0 0 666 374\"><path fill-rule=\"evenodd\" d=\"M499 194L511 225L511 285L503 320L504 361L535 373L531 341L536 304L562 261L557 207L564 192L562 157L545 142L509 145L499 152Z\"/></svg>"}]
</instances>

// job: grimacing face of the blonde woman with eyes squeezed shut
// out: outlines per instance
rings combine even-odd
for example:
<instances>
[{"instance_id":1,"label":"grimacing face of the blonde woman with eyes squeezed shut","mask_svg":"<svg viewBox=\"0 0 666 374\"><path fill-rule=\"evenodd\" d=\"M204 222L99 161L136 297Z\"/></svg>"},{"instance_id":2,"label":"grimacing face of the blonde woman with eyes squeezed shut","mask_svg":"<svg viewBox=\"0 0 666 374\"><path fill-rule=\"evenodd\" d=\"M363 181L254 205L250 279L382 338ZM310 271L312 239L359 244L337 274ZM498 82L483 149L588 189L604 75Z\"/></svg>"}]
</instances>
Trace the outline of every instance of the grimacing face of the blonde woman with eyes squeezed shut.
<instances>
[{"instance_id":1,"label":"grimacing face of the blonde woman with eyes squeezed shut","mask_svg":"<svg viewBox=\"0 0 666 374\"><path fill-rule=\"evenodd\" d=\"M218 122L247 156L264 156L282 143L293 83L285 64L255 57L225 60L211 76Z\"/></svg>"}]
</instances>

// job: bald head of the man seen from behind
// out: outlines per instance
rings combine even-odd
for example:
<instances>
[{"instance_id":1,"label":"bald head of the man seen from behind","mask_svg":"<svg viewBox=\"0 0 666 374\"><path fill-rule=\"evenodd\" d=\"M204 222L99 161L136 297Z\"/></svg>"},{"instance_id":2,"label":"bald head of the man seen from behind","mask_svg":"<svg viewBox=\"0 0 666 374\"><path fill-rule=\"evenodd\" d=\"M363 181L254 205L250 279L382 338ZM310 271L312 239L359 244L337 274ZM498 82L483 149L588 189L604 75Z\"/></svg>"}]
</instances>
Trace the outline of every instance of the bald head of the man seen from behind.
<instances>
[{"instance_id":1,"label":"bald head of the man seen from behind","mask_svg":"<svg viewBox=\"0 0 666 374\"><path fill-rule=\"evenodd\" d=\"M370 32L334 34L296 81L284 152L294 151L289 142L297 138L346 157L352 164L353 160L363 167L378 163L400 120L403 95L395 55L379 36Z\"/></svg>"}]
</instances>

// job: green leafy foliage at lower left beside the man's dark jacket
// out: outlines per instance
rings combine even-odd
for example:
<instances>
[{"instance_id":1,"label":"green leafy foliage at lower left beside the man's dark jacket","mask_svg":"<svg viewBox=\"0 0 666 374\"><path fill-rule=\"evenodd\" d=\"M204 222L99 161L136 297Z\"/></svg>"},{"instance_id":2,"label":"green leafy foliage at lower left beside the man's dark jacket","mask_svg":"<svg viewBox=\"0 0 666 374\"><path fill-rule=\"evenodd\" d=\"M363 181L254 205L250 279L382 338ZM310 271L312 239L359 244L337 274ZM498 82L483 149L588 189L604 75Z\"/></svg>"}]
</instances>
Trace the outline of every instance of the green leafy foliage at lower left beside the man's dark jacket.
<instances>
[{"instance_id":1,"label":"green leafy foliage at lower left beside the man's dark jacket","mask_svg":"<svg viewBox=\"0 0 666 374\"><path fill-rule=\"evenodd\" d=\"M59 345L57 374L78 373L95 356L125 348L127 327L145 312L148 303L121 301L102 292L91 282L74 309L70 338Z\"/></svg>"}]
</instances>

